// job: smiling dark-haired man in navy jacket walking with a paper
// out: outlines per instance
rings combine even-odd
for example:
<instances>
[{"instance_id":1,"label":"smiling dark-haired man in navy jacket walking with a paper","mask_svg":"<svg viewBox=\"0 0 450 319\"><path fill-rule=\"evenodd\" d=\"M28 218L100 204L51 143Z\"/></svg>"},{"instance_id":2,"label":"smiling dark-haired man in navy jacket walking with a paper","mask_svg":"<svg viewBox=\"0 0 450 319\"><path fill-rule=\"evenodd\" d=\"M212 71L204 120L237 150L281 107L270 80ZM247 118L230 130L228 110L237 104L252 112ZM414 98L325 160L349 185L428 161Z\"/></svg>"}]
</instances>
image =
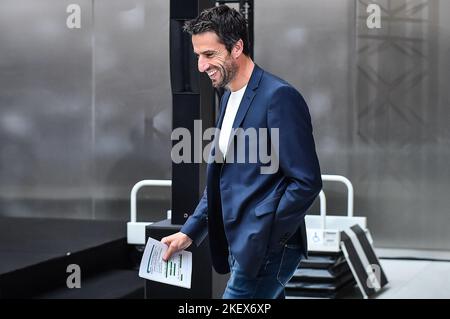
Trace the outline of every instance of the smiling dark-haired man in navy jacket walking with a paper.
<instances>
[{"instance_id":1,"label":"smiling dark-haired man in navy jacket walking with a paper","mask_svg":"<svg viewBox=\"0 0 450 319\"><path fill-rule=\"evenodd\" d=\"M185 31L192 36L199 71L214 87L227 89L211 151L225 162L208 164L207 187L195 212L180 232L161 240L169 246L163 259L193 241L199 245L208 234L214 268L231 270L223 298L283 298L307 253L304 215L322 188L308 107L291 85L253 63L246 22L236 10L207 9L188 21ZM278 130L278 145L268 137L279 162L276 171L261 173L261 161L228 160L237 128Z\"/></svg>"}]
</instances>

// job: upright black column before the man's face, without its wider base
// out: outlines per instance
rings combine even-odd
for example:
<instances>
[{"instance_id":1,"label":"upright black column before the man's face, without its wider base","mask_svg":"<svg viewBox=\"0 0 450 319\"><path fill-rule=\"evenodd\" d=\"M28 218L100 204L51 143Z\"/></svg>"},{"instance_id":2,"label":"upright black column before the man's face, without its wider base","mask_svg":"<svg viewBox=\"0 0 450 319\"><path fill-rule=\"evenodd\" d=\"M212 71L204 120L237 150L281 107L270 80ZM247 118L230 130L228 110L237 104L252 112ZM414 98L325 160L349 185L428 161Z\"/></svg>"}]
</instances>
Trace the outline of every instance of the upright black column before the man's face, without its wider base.
<instances>
[{"instance_id":1,"label":"upright black column before the man's face, without its wider base","mask_svg":"<svg viewBox=\"0 0 450 319\"><path fill-rule=\"evenodd\" d=\"M203 130L214 125L214 89L208 77L197 69L191 36L183 32L183 25L212 6L214 2L209 0L170 1L172 127L186 128L191 133L190 163L172 161L172 224L184 224L194 212L205 187L206 164L202 160L202 150L208 141L194 142L194 137L203 135L203 131L194 132L194 123L201 120ZM173 144L179 142L173 141Z\"/></svg>"}]
</instances>

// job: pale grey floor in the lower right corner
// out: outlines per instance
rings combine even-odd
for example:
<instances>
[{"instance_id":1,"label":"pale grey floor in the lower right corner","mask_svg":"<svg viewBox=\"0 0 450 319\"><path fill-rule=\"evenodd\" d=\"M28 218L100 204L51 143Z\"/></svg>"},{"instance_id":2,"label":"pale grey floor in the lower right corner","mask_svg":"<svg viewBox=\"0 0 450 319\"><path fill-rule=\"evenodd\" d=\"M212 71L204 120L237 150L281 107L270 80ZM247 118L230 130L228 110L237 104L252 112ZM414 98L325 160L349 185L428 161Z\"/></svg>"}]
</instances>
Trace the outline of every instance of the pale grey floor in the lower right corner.
<instances>
[{"instance_id":1,"label":"pale grey floor in the lower right corner","mask_svg":"<svg viewBox=\"0 0 450 319\"><path fill-rule=\"evenodd\" d=\"M376 253L389 284L374 298L450 298L450 252L376 249ZM383 257L399 259L383 259ZM411 260L404 260L404 258ZM428 260L420 260L422 258ZM358 290L355 290L355 293L349 298L359 298L360 296Z\"/></svg>"}]
</instances>

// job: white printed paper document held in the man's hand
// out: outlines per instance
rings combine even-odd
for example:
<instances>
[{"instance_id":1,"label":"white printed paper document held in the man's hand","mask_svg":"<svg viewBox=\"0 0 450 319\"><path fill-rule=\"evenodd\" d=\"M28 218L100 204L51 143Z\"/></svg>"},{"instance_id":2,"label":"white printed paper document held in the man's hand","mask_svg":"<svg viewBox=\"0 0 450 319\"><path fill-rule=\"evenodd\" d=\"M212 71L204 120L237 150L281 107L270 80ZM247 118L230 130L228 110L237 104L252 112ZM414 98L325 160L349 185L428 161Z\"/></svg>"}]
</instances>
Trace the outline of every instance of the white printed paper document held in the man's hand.
<instances>
[{"instance_id":1,"label":"white printed paper document held in the man's hand","mask_svg":"<svg viewBox=\"0 0 450 319\"><path fill-rule=\"evenodd\" d=\"M182 250L174 253L165 262L162 257L167 249L162 242L148 238L139 268L139 277L190 289L192 253Z\"/></svg>"}]
</instances>

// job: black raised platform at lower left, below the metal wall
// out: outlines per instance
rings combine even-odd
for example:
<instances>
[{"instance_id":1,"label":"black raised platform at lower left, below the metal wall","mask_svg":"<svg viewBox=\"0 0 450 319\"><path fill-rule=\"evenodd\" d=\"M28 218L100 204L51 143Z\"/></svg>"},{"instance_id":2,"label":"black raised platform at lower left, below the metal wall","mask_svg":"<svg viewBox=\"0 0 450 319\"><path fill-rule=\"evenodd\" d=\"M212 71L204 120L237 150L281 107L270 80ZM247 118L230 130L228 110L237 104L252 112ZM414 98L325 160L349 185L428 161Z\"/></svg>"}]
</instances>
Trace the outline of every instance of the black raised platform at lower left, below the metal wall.
<instances>
[{"instance_id":1,"label":"black raised platform at lower left, below the metal wall","mask_svg":"<svg viewBox=\"0 0 450 319\"><path fill-rule=\"evenodd\" d=\"M86 280L132 269L136 254L120 221L0 218L0 298L33 298L65 287L70 265Z\"/></svg>"}]
</instances>

